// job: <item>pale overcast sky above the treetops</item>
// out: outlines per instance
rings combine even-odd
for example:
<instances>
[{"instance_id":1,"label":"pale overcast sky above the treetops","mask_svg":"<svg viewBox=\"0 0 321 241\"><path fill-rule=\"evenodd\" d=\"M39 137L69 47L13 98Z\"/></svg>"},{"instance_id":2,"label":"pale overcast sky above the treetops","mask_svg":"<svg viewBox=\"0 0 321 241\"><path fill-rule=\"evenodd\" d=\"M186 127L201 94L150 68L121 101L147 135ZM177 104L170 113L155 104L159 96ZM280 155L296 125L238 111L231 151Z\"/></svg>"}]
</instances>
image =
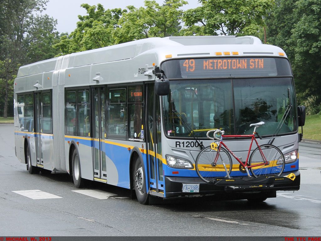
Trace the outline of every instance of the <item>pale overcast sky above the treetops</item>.
<instances>
[{"instance_id":1,"label":"pale overcast sky above the treetops","mask_svg":"<svg viewBox=\"0 0 321 241\"><path fill-rule=\"evenodd\" d=\"M163 4L164 0L156 0L157 3ZM198 0L187 0L189 4L182 7L187 10L200 6ZM126 8L128 5L134 5L136 8L144 6L144 0L49 0L47 10L42 14L48 14L50 17L57 19L56 29L58 32L71 33L76 28L78 15L85 15L86 10L80 6L82 3L97 5L100 3L105 9Z\"/></svg>"}]
</instances>

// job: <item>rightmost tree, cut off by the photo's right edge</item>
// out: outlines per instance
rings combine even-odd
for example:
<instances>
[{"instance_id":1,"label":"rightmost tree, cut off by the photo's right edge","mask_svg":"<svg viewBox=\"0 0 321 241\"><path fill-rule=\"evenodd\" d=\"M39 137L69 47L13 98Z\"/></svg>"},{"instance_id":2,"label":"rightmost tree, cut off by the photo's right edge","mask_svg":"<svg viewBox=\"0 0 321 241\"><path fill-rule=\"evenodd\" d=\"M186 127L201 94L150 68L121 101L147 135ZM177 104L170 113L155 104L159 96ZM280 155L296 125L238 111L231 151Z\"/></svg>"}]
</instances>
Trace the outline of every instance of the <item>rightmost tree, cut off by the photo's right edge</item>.
<instances>
[{"instance_id":1,"label":"rightmost tree, cut off by the photo's right edge","mask_svg":"<svg viewBox=\"0 0 321 241\"><path fill-rule=\"evenodd\" d=\"M298 97L315 114L321 111L321 0L299 0L293 14L298 21L289 41Z\"/></svg>"}]
</instances>

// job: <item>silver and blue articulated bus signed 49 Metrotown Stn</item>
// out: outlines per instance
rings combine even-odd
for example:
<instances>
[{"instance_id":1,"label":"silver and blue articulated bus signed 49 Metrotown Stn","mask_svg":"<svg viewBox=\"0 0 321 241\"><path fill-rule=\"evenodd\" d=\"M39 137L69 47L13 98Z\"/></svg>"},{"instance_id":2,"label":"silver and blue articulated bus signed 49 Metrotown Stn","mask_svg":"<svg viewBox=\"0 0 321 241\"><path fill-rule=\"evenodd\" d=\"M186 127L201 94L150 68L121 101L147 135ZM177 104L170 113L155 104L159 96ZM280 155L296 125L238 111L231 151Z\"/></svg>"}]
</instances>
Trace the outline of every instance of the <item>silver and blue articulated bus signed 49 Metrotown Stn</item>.
<instances>
[{"instance_id":1,"label":"silver and blue articulated bus signed 49 Metrotown Stn","mask_svg":"<svg viewBox=\"0 0 321 241\"><path fill-rule=\"evenodd\" d=\"M302 112L276 46L252 36L149 38L20 67L15 150L30 174L68 173L77 188L88 180L123 187L142 204L204 195L264 201L299 190ZM235 183L246 175L235 162L226 184L204 183L195 158L212 143L206 132L251 134L259 121L259 144L285 156L283 177ZM227 142L245 159L250 139Z\"/></svg>"}]
</instances>

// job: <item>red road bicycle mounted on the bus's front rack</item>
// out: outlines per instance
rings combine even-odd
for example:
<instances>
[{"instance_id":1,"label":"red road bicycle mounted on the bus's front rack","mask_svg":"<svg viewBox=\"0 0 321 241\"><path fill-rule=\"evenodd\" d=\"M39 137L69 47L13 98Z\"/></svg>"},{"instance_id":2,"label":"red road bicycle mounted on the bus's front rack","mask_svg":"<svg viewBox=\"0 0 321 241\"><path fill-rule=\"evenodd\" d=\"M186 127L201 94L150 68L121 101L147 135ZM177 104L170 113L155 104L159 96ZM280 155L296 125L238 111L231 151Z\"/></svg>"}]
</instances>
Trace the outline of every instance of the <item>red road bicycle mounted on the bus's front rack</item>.
<instances>
[{"instance_id":1,"label":"red road bicycle mounted on the bus's front rack","mask_svg":"<svg viewBox=\"0 0 321 241\"><path fill-rule=\"evenodd\" d=\"M259 145L255 135L260 139L261 136L256 132L256 128L264 125L263 121L250 124L254 126L252 135L224 135L224 131L220 129L209 130L206 136L212 140L219 140L213 142L210 146L203 148L196 157L195 169L198 176L206 183L214 180L216 177L228 177L232 171L232 158L230 154L239 162L239 165L234 165L242 173L247 173L251 177L248 169L254 177L259 176L280 176L284 170L285 159L282 151L273 145L264 144ZM213 138L210 133L213 133ZM250 147L248 149L246 161L243 162L242 158L237 157L223 142L224 137L251 138ZM251 152L253 141L256 143L256 148ZM250 155L251 154L251 155Z\"/></svg>"}]
</instances>

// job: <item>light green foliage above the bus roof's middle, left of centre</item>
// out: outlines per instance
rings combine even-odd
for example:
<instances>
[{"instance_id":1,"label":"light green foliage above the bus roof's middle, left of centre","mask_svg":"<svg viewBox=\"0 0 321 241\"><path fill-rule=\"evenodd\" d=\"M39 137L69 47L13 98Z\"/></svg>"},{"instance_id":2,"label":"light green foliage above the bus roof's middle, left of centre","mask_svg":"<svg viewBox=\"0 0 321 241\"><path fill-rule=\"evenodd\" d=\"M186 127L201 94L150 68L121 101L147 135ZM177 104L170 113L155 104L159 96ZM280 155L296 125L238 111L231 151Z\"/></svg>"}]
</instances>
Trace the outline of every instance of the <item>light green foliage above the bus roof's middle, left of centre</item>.
<instances>
[{"instance_id":1,"label":"light green foliage above the bus roof's middle, left of centre","mask_svg":"<svg viewBox=\"0 0 321 241\"><path fill-rule=\"evenodd\" d=\"M127 6L105 10L101 4L82 4L87 14L78 16L77 28L54 45L61 54L101 48L149 37L179 35L184 0L167 0L163 5L145 1L145 7Z\"/></svg>"}]
</instances>

